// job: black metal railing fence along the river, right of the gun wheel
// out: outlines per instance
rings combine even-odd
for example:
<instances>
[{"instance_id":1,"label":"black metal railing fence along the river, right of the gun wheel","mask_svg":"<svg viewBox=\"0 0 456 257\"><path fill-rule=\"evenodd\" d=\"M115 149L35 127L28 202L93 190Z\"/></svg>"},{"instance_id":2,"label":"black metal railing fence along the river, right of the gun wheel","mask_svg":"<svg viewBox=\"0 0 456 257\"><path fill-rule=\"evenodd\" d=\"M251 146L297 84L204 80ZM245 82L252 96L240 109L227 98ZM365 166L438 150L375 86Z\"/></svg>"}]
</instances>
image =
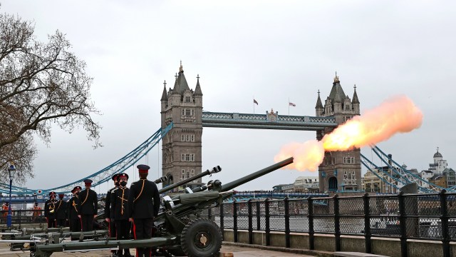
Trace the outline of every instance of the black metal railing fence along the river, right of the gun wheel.
<instances>
[{"instance_id":1,"label":"black metal railing fence along the river, right of the gun wheel","mask_svg":"<svg viewBox=\"0 0 456 257\"><path fill-rule=\"evenodd\" d=\"M341 235L363 236L366 253L371 253L371 238L400 239L401 256L408 256L407 240L441 241L443 256L450 257L450 241L456 241L456 193L445 190L432 194L333 196L264 201L234 201L209 209L207 216L222 231L264 231L266 246L271 231L308 233L309 248L314 250L314 235L334 236L335 249L341 251ZM223 233L222 233L223 234Z\"/></svg>"}]
</instances>

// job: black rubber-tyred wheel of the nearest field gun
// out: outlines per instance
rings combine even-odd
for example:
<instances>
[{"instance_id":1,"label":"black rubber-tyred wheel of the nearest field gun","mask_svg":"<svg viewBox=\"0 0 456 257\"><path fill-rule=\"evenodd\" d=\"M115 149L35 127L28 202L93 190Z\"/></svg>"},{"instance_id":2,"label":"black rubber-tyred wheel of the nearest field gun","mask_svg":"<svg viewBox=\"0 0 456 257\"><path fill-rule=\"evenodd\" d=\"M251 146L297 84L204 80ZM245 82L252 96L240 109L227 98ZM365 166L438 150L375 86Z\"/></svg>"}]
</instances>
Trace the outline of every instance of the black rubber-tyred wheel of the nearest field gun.
<instances>
[{"instance_id":1,"label":"black rubber-tyred wheel of the nearest field gun","mask_svg":"<svg viewBox=\"0 0 456 257\"><path fill-rule=\"evenodd\" d=\"M212 257L222 247L222 231L214 221L197 218L185 226L180 244L188 257Z\"/></svg>"}]
</instances>

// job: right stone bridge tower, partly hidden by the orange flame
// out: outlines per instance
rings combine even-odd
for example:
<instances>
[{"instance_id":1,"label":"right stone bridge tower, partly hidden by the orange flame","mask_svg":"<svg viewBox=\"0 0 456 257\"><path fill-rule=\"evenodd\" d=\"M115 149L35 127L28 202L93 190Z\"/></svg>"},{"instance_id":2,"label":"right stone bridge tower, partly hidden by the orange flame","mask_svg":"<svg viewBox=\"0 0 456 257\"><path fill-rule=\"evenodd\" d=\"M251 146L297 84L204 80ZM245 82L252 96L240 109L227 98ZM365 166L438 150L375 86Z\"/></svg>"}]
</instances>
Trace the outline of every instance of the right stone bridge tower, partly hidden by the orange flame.
<instances>
[{"instance_id":1,"label":"right stone bridge tower, partly hidden by the orange flame","mask_svg":"<svg viewBox=\"0 0 456 257\"><path fill-rule=\"evenodd\" d=\"M343 124L353 116L360 114L356 85L354 86L353 99L343 92L341 82L334 77L331 93L326 98L325 104L321 103L320 91L316 101L316 116L334 116L337 124ZM318 141L335 128L326 128L316 131ZM361 156L360 149L352 151L326 151L323 162L318 166L320 192L351 191L361 189Z\"/></svg>"}]
</instances>

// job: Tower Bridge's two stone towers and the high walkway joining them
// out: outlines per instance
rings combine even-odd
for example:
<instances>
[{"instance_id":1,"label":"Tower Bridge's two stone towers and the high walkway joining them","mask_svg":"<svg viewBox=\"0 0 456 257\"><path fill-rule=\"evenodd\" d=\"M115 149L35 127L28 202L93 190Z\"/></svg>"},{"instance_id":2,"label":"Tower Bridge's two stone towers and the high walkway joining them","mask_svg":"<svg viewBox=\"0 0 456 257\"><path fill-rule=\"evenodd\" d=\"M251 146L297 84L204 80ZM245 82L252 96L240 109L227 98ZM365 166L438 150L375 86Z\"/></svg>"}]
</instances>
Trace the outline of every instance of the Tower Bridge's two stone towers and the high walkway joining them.
<instances>
[{"instance_id":1,"label":"Tower Bridge's two stone towers and the high walkway joining them","mask_svg":"<svg viewBox=\"0 0 456 257\"><path fill-rule=\"evenodd\" d=\"M339 124L360 114L360 102L354 86L350 99L342 89L336 74L329 96L323 102L320 92L316 99L315 116L280 116L274 110L266 114L214 113L202 111L202 86L199 75L195 90L190 89L182 63L172 88L166 81L162 92L162 128L174 124L162 141L162 173L166 185L202 172L202 128L281 129L316 131L321 140ZM320 191L361 189L360 150L327 151L318 167ZM201 178L187 184L190 188L201 185Z\"/></svg>"}]
</instances>

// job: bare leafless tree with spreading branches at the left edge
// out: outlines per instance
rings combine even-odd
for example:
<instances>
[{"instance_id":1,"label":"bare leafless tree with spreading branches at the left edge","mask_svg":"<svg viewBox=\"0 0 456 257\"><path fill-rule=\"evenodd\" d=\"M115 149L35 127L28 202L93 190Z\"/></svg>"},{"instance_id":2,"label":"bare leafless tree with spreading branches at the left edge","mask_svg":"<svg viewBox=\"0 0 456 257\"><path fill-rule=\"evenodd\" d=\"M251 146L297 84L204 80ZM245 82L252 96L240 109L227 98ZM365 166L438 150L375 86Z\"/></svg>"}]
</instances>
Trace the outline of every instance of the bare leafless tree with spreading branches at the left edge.
<instances>
[{"instance_id":1,"label":"bare leafless tree with spreading branches at the left edge","mask_svg":"<svg viewBox=\"0 0 456 257\"><path fill-rule=\"evenodd\" d=\"M0 14L0 172L14 161L23 163L22 176L33 176L33 134L49 143L52 124L70 133L82 126L94 147L100 146L101 127L92 119L99 111L90 101L85 62L69 51L60 31L43 43L33 30L31 21Z\"/></svg>"}]
</instances>

